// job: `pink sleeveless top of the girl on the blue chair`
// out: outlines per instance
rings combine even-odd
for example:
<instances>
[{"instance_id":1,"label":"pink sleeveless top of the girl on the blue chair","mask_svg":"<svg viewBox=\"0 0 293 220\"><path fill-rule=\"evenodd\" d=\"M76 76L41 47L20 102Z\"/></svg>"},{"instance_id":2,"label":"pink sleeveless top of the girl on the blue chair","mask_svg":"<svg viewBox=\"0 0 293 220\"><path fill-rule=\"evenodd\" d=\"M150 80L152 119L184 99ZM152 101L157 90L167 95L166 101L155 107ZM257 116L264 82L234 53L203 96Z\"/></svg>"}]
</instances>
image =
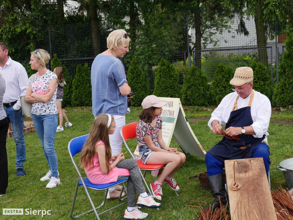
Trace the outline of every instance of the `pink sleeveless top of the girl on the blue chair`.
<instances>
[{"instance_id":1,"label":"pink sleeveless top of the girl on the blue chair","mask_svg":"<svg viewBox=\"0 0 293 220\"><path fill-rule=\"evenodd\" d=\"M103 141L98 141L96 143L96 146L98 146L99 144L103 144ZM95 146L95 147L96 147ZM110 164L112 164L113 162L110 161ZM86 172L86 176L88 177L88 180L93 183L93 184L105 184L105 183L110 183L110 182L116 182L117 181L117 177L118 177L118 167L114 167L109 174L103 174L101 167L100 167L100 163L99 163L99 157L98 154L95 153L95 156L93 158L93 169L91 169L92 167L90 167L88 169L88 167L86 167L84 169L84 171Z\"/></svg>"}]
</instances>

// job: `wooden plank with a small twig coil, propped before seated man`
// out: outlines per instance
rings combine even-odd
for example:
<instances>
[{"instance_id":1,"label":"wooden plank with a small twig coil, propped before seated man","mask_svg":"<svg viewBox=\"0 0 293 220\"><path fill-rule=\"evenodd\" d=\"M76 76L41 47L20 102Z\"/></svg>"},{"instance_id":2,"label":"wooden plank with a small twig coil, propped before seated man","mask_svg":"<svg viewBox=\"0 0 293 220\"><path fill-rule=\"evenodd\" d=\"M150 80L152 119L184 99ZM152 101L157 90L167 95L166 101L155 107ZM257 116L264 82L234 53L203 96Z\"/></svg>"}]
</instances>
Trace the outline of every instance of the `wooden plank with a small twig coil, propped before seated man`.
<instances>
[{"instance_id":1,"label":"wooden plank with a small twig coil, propped before seated man","mask_svg":"<svg viewBox=\"0 0 293 220\"><path fill-rule=\"evenodd\" d=\"M234 168L236 191L229 188ZM225 170L232 220L277 220L263 158L225 160Z\"/></svg>"}]
</instances>

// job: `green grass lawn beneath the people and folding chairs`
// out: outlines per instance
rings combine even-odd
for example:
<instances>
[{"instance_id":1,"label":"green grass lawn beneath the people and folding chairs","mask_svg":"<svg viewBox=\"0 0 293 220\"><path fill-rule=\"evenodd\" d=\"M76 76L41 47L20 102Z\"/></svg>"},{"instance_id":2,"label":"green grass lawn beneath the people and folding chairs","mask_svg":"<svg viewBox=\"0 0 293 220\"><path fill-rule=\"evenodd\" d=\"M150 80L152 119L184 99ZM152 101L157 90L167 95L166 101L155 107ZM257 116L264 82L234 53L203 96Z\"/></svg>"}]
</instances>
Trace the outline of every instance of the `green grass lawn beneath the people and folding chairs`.
<instances>
[{"instance_id":1,"label":"green grass lawn beneath the people and folding chairs","mask_svg":"<svg viewBox=\"0 0 293 220\"><path fill-rule=\"evenodd\" d=\"M211 107L210 107L211 108ZM141 107L131 108L131 113L126 114L126 123L138 121L138 115L142 110ZM211 115L211 111L207 111L207 108L184 106L185 114L190 123L190 126L195 133L195 136L208 151L216 144L220 137L207 131L208 119ZM7 154L8 154L8 188L6 190L6 196L0 197L0 219L70 219L69 212L72 203L72 197L74 194L74 187L76 184L77 173L74 169L69 154L67 151L68 142L77 136L81 136L89 133L91 125L94 121L94 117L91 110L74 111L71 108L67 108L66 112L69 121L73 124L70 128L65 128L64 131L58 132L55 138L55 150L58 156L59 173L61 185L53 188L46 189L47 181L41 182L40 178L48 172L48 165L45 160L43 150L40 145L40 141L35 132L25 134L26 142L26 162L24 177L16 177L15 170L15 158L16 150L13 138L7 138ZM200 120L198 120L200 119ZM270 167L272 188L277 189L280 183L285 180L283 173L276 170L276 166L282 160L292 158L293 155L293 136L292 125L283 125L275 123L275 121L292 121L293 110L287 109L283 112L272 112L271 122L268 132L269 147L270 147L270 159L272 161ZM136 146L135 140L132 141L130 147L134 151ZM172 147L178 147L175 140L171 141ZM181 149L180 149L181 150ZM125 152L123 146L122 149ZM125 155L126 158L130 158L129 154ZM148 212L148 219L198 219L199 208L187 207L185 205L190 204L190 200L199 200L207 202L207 204L201 203L203 207L206 207L213 201L210 197L210 191L204 190L200 187L198 178L190 179L190 176L197 175L201 172L205 172L205 160L195 155L186 155L186 163L178 170L174 175L180 190L178 191L179 197L175 195L170 187L163 187L162 195L162 207L160 210L142 208L141 211ZM156 177L146 175L147 182L152 182ZM275 184L273 184L275 183ZM287 187L286 182L283 182L282 187ZM104 194L103 192L96 192L89 190L93 202L98 206L98 200L100 201ZM118 204L117 200L107 201L101 208L105 210L107 207L112 207ZM192 202L191 205L198 206L197 202ZM23 208L32 210L51 210L51 215L44 217L40 215L2 215L2 208ZM88 202L84 189L79 188L79 192L76 199L74 215L79 214L85 210L91 209L91 205ZM101 219L124 219L124 210L126 204L122 207L109 211L100 216ZM25 213L25 212L24 212ZM90 213L79 217L79 219L95 219L94 213Z\"/></svg>"}]
</instances>

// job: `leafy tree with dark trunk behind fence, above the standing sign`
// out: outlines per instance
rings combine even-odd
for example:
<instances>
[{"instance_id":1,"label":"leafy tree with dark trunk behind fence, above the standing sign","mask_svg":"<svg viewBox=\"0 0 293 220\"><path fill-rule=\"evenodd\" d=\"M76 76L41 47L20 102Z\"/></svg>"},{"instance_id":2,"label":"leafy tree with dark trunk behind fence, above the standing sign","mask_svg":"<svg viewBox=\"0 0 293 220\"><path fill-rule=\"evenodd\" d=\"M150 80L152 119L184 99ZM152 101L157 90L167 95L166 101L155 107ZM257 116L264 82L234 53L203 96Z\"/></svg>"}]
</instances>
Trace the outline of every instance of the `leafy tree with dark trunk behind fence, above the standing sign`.
<instances>
[{"instance_id":1,"label":"leafy tree with dark trunk behind fence, above the standing sign","mask_svg":"<svg viewBox=\"0 0 293 220\"><path fill-rule=\"evenodd\" d=\"M195 41L192 50L195 50L193 60L195 66L201 69L201 49L212 43L217 46L220 39L215 38L217 33L230 31L230 21L234 17L231 10L227 10L217 0L161 0L161 5L170 11L188 12L189 27L195 29Z\"/></svg>"}]
</instances>

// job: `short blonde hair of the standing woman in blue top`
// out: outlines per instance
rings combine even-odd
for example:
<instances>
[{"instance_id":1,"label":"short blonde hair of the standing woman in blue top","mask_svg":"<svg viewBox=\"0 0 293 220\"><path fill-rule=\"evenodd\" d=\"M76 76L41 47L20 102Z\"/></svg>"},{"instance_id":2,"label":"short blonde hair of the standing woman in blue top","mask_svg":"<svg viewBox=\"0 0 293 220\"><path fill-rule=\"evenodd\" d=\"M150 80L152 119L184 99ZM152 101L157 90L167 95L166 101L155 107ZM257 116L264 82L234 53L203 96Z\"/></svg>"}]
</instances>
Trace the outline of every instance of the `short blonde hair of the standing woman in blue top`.
<instances>
[{"instance_id":1,"label":"short blonde hair of the standing woman in blue top","mask_svg":"<svg viewBox=\"0 0 293 220\"><path fill-rule=\"evenodd\" d=\"M127 35L126 31L123 29L112 31L108 38L107 38L107 48L111 50L112 53L115 53L115 48L117 49L118 46L124 45L130 42L130 38L127 35L127 38L124 35Z\"/></svg>"}]
</instances>

